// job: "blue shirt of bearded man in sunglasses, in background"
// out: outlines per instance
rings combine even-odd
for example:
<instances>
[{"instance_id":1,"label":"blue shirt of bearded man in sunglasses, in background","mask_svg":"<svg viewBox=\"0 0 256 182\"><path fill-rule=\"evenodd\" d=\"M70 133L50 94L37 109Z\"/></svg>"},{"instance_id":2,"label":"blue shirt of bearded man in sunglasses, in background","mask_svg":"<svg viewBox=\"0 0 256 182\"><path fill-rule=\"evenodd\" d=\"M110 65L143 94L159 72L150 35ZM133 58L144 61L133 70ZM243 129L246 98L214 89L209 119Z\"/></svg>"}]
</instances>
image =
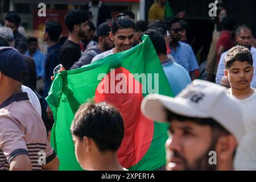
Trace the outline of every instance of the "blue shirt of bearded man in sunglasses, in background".
<instances>
[{"instance_id":1,"label":"blue shirt of bearded man in sunglasses, in background","mask_svg":"<svg viewBox=\"0 0 256 182\"><path fill-rule=\"evenodd\" d=\"M170 48L171 54L174 56L176 63L183 66L189 74L190 72L199 69L196 56L191 46L186 43L179 42L176 51L174 51L172 47Z\"/></svg>"}]
</instances>

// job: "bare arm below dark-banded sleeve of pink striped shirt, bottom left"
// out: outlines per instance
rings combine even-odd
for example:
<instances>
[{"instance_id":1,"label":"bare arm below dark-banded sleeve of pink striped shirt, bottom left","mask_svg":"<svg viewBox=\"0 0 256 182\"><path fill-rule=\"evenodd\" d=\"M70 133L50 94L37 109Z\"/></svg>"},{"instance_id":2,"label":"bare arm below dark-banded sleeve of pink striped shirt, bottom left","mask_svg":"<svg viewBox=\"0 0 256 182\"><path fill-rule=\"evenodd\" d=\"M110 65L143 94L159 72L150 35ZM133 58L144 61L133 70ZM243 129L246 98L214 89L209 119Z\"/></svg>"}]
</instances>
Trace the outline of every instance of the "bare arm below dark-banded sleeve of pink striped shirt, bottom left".
<instances>
[{"instance_id":1,"label":"bare arm below dark-banded sleeve of pink striped shirt, bottom left","mask_svg":"<svg viewBox=\"0 0 256 182\"><path fill-rule=\"evenodd\" d=\"M32 164L30 158L26 154L15 156L10 162L10 171L31 171Z\"/></svg>"}]
</instances>

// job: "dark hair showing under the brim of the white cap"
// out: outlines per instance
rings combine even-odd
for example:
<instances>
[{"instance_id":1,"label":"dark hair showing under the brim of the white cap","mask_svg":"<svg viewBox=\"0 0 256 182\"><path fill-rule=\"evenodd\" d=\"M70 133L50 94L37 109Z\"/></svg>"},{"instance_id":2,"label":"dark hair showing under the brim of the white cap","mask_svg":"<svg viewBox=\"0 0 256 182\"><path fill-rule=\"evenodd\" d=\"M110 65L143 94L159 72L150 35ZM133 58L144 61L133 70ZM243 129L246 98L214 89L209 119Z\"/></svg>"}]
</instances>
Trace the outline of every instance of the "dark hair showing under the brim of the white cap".
<instances>
[{"instance_id":1,"label":"dark hair showing under the brim of the white cap","mask_svg":"<svg viewBox=\"0 0 256 182\"><path fill-rule=\"evenodd\" d=\"M208 125L210 126L210 129L213 131L212 132L212 137L214 139L218 139L219 137L223 135L230 135L230 132L226 130L220 123L215 121L212 118L192 118L192 117L185 117L183 115L179 115L176 113L173 113L170 110L166 109L166 114L167 114L167 121L172 122L174 119L177 119L179 122L184 122L184 121L192 121L196 123L197 125Z\"/></svg>"}]
</instances>

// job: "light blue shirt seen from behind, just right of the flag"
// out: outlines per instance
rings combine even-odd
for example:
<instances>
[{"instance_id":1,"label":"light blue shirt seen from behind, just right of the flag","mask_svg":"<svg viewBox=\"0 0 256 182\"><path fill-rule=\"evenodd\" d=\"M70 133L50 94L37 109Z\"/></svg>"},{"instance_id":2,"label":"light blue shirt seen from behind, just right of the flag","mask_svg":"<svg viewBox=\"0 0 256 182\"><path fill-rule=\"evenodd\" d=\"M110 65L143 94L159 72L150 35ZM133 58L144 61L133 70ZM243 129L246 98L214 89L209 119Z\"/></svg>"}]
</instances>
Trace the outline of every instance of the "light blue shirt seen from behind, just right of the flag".
<instances>
[{"instance_id":1,"label":"light blue shirt seen from behind, just right of the flag","mask_svg":"<svg viewBox=\"0 0 256 182\"><path fill-rule=\"evenodd\" d=\"M174 63L171 59L162 63L164 73L171 86L174 96L177 96L188 84L191 83L191 78L188 72L181 65Z\"/></svg>"}]
</instances>

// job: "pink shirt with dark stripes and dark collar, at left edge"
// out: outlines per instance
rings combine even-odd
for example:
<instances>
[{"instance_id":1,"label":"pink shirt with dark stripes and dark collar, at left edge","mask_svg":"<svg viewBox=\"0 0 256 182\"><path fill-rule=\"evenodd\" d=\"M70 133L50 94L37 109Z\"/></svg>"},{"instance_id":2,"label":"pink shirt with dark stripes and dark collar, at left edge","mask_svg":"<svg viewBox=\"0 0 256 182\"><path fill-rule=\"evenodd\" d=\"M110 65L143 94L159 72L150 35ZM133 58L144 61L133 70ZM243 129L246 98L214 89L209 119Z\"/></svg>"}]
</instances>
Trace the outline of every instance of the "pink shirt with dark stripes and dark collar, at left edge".
<instances>
[{"instance_id":1,"label":"pink shirt with dark stripes and dark collar, at left edge","mask_svg":"<svg viewBox=\"0 0 256 182\"><path fill-rule=\"evenodd\" d=\"M33 170L56 156L27 93L14 94L0 105L0 170L9 170L11 160L21 154L29 156Z\"/></svg>"}]
</instances>

